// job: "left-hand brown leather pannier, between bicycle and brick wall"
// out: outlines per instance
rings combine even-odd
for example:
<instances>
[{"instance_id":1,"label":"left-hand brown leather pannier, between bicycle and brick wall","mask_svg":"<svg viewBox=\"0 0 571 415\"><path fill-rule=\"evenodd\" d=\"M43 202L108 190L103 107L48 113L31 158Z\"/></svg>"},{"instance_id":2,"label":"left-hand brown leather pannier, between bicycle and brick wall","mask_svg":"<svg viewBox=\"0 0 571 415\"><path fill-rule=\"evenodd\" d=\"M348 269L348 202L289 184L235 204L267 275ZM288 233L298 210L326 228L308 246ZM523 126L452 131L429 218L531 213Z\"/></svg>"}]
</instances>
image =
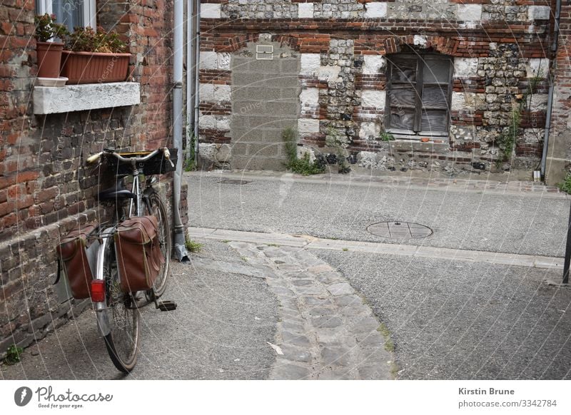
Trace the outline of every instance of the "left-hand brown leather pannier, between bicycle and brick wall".
<instances>
[{"instance_id":1,"label":"left-hand brown leather pannier, between bicycle and brick wall","mask_svg":"<svg viewBox=\"0 0 571 415\"><path fill-rule=\"evenodd\" d=\"M88 235L95 225L79 225L64 237L56 248L75 299L90 297L91 280L94 279L87 260Z\"/></svg>"}]
</instances>

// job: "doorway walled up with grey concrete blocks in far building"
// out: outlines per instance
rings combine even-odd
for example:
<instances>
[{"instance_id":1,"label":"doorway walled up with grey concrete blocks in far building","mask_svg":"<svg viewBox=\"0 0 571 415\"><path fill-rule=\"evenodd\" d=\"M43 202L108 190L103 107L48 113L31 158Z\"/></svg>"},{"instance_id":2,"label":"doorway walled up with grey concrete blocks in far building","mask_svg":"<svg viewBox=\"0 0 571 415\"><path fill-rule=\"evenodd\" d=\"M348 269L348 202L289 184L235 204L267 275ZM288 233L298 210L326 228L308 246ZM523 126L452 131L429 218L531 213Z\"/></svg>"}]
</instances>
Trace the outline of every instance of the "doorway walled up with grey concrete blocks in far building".
<instances>
[{"instance_id":1,"label":"doorway walled up with grey concrete blocks in far building","mask_svg":"<svg viewBox=\"0 0 571 415\"><path fill-rule=\"evenodd\" d=\"M256 59L256 45L273 46L271 60ZM300 56L279 43L249 43L232 70L232 168L285 170L282 132L297 128Z\"/></svg>"}]
</instances>

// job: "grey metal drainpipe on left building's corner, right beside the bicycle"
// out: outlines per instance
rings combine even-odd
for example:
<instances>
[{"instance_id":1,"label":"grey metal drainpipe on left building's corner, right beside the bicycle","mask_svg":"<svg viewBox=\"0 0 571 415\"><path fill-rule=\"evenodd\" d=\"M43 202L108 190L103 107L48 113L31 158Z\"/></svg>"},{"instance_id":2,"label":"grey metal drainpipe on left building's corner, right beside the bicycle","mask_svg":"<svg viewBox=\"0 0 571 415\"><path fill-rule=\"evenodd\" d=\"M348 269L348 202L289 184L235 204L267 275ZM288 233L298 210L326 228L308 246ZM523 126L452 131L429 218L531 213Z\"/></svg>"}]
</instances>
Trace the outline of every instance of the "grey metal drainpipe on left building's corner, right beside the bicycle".
<instances>
[{"instance_id":1,"label":"grey metal drainpipe on left building's corner, right beside the bicycle","mask_svg":"<svg viewBox=\"0 0 571 415\"><path fill-rule=\"evenodd\" d=\"M174 0L174 56L173 56L173 143L178 160L173 179L174 250L181 262L190 262L186 252L186 238L181 220L181 177L183 170L183 0Z\"/></svg>"}]
</instances>

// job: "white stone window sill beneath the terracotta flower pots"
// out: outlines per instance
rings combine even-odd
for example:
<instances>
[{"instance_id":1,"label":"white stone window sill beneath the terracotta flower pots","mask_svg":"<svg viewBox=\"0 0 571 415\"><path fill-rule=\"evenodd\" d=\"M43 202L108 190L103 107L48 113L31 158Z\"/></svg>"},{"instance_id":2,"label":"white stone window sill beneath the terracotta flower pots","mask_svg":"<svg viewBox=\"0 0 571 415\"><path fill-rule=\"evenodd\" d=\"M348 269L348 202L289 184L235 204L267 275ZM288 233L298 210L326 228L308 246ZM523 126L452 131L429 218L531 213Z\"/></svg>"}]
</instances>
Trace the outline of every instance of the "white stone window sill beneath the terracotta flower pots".
<instances>
[{"instance_id":1,"label":"white stone window sill beneath the terracotta flower pots","mask_svg":"<svg viewBox=\"0 0 571 415\"><path fill-rule=\"evenodd\" d=\"M137 82L34 86L36 115L134 106L138 103L141 103L141 88Z\"/></svg>"}]
</instances>

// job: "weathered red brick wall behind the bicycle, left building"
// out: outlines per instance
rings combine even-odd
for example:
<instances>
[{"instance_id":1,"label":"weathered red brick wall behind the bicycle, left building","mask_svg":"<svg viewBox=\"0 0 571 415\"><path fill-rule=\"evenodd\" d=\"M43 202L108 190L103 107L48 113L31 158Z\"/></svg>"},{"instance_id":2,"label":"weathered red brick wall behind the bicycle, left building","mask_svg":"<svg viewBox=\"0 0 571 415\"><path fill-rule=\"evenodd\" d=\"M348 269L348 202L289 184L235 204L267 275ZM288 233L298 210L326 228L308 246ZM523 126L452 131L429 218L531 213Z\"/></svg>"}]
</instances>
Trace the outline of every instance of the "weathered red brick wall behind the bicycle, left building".
<instances>
[{"instance_id":1,"label":"weathered red brick wall behind the bicycle, left building","mask_svg":"<svg viewBox=\"0 0 571 415\"><path fill-rule=\"evenodd\" d=\"M26 346L89 307L62 304L51 285L61 235L104 215L94 198L98 178L83 167L86 157L105 147L172 143L171 2L98 6L98 24L116 26L130 41L141 105L49 116L32 111L34 2L6 0L0 8L0 45L6 45L0 49L0 356L10 344ZM162 186L168 195L169 182Z\"/></svg>"}]
</instances>

